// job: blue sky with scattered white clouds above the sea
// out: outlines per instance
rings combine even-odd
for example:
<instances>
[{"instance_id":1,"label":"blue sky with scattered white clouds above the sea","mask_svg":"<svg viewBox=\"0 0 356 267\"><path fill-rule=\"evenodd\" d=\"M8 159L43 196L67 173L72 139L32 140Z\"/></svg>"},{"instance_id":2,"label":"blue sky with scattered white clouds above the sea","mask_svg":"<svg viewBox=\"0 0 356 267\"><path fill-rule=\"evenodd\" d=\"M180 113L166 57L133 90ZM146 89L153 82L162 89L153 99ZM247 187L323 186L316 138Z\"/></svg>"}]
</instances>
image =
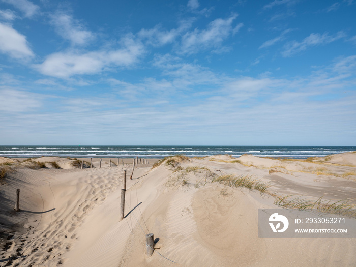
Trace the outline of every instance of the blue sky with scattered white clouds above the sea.
<instances>
[{"instance_id":1,"label":"blue sky with scattered white clouds above the sea","mask_svg":"<svg viewBox=\"0 0 356 267\"><path fill-rule=\"evenodd\" d=\"M0 0L0 144L355 145L355 14Z\"/></svg>"}]
</instances>

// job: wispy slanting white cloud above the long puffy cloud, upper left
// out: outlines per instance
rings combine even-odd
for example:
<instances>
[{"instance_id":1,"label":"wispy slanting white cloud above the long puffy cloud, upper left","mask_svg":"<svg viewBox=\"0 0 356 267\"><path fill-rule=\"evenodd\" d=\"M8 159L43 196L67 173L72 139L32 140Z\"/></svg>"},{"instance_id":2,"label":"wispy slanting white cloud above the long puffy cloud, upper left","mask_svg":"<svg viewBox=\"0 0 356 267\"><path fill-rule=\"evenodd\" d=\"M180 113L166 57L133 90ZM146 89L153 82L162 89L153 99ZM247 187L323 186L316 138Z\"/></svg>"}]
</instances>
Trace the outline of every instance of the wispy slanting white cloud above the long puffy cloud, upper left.
<instances>
[{"instance_id":1,"label":"wispy slanting white cloud above the long puffy cloud, upper left","mask_svg":"<svg viewBox=\"0 0 356 267\"><path fill-rule=\"evenodd\" d=\"M51 24L55 26L56 32L60 36L74 45L84 45L94 39L94 34L87 31L72 15L57 12L51 15Z\"/></svg>"}]
</instances>

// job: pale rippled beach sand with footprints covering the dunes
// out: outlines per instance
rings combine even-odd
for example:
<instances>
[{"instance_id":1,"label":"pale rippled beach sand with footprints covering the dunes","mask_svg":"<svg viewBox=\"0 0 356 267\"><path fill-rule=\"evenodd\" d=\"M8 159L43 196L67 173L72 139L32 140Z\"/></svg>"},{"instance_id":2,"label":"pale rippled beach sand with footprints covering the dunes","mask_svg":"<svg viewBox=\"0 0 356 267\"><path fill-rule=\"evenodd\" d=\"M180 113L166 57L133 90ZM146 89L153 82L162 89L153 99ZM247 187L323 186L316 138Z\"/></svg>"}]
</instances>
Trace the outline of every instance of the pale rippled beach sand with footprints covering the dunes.
<instances>
[{"instance_id":1,"label":"pale rippled beach sand with footprints covering the dunes","mask_svg":"<svg viewBox=\"0 0 356 267\"><path fill-rule=\"evenodd\" d=\"M78 160L0 158L1 266L356 266L356 238L258 237L258 209L278 208L278 198L356 204L356 153L306 161L174 157L155 168L157 160L142 162L132 180L133 159L118 166L112 159L111 167L103 159L101 168L99 159L94 168L83 159L83 169ZM261 193L214 182L229 174L269 187ZM148 233L156 242L151 257Z\"/></svg>"}]
</instances>

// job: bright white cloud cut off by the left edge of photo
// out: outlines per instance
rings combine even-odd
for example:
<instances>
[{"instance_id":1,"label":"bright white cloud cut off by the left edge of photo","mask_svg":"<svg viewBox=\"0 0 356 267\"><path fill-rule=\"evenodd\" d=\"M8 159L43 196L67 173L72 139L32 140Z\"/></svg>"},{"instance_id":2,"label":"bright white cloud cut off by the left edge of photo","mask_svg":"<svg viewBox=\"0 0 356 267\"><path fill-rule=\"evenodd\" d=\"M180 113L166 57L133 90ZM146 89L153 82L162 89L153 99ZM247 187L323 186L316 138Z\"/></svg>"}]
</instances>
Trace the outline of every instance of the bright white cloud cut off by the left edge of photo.
<instances>
[{"instance_id":1,"label":"bright white cloud cut off by the left edge of photo","mask_svg":"<svg viewBox=\"0 0 356 267\"><path fill-rule=\"evenodd\" d=\"M28 60L34 56L28 47L26 37L10 25L2 23L0 23L0 51L17 60Z\"/></svg>"}]
</instances>

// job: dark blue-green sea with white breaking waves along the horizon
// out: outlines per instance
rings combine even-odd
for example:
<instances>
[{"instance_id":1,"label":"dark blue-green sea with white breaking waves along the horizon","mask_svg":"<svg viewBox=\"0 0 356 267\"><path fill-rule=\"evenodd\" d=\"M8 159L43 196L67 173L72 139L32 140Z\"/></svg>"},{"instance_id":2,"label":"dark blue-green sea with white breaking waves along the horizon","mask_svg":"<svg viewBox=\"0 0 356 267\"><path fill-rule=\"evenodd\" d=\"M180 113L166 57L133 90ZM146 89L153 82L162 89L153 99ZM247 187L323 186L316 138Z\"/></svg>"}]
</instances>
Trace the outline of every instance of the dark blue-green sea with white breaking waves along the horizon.
<instances>
[{"instance_id":1,"label":"dark blue-green sea with white breaking waves along the horizon","mask_svg":"<svg viewBox=\"0 0 356 267\"><path fill-rule=\"evenodd\" d=\"M0 156L9 158L100 157L100 158L164 158L172 155L204 157L228 154L239 157L250 154L258 157L295 158L324 157L356 151L356 146L177 146L177 145L2 145Z\"/></svg>"}]
</instances>

